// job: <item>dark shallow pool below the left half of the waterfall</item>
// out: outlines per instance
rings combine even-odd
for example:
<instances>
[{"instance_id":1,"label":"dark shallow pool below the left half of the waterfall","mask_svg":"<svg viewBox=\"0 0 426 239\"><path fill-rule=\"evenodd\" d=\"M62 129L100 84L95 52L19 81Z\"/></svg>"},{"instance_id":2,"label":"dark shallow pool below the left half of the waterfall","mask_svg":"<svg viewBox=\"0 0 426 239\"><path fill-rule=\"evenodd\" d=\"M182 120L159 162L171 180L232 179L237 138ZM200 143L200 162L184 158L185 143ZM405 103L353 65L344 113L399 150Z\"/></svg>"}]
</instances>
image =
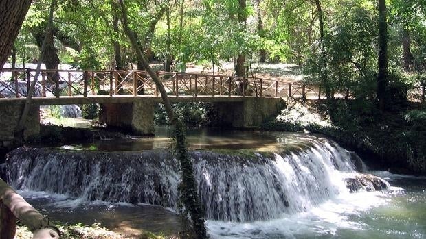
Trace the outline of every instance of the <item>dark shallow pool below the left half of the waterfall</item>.
<instances>
[{"instance_id":1,"label":"dark shallow pool below the left half of the waterfall","mask_svg":"<svg viewBox=\"0 0 426 239\"><path fill-rule=\"evenodd\" d=\"M19 193L31 205L54 220L83 225L100 223L102 227L126 235L126 238L139 238L138 235L144 231L171 235L179 231L181 225L175 212L159 206L103 201L89 203L46 192Z\"/></svg>"}]
</instances>

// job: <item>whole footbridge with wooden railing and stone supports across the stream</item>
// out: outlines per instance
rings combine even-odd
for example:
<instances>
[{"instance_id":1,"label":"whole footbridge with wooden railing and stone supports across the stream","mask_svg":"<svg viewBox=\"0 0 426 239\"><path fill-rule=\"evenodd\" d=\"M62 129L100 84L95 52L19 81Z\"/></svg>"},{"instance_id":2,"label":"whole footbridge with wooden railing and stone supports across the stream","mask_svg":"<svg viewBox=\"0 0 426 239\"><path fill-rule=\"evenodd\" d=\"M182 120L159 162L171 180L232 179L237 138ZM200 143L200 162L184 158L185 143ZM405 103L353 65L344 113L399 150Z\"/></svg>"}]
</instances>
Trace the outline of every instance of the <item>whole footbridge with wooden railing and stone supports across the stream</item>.
<instances>
[{"instance_id":1,"label":"whole footbridge with wooden railing and stone supports across the stream","mask_svg":"<svg viewBox=\"0 0 426 239\"><path fill-rule=\"evenodd\" d=\"M106 126L153 134L159 92L145 71L5 70L0 75L0 142L14 138L30 84L36 81L25 138L39 134L40 105L99 103ZM279 80L157 72L171 102L208 102L217 124L258 127L284 107L282 96L305 97L308 86ZM286 95L287 94L287 95Z\"/></svg>"}]
</instances>

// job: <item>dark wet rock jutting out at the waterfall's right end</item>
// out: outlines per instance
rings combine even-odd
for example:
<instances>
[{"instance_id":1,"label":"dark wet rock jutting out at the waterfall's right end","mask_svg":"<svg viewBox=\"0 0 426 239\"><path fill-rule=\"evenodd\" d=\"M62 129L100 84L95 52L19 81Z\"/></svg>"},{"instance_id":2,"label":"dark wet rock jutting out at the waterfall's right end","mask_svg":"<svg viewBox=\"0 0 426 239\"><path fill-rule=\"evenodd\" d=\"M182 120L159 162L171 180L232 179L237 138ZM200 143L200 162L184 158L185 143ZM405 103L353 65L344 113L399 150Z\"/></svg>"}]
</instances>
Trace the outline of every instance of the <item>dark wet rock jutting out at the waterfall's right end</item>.
<instances>
[{"instance_id":1,"label":"dark wet rock jutting out at the waterfall's right end","mask_svg":"<svg viewBox=\"0 0 426 239\"><path fill-rule=\"evenodd\" d=\"M358 174L344 179L350 192L373 192L389 188L387 181L374 175Z\"/></svg>"}]
</instances>

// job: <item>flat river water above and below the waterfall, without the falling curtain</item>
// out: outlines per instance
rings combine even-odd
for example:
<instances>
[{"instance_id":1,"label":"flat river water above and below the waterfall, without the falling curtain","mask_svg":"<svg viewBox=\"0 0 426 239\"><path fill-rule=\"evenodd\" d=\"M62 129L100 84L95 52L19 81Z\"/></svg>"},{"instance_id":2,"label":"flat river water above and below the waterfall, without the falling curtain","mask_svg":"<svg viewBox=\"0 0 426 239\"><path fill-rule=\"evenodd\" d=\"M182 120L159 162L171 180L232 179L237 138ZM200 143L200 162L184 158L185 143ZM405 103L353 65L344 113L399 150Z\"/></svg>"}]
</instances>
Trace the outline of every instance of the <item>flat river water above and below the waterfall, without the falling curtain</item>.
<instances>
[{"instance_id":1,"label":"flat river water above and below the waterfall, without the falling curtain","mask_svg":"<svg viewBox=\"0 0 426 239\"><path fill-rule=\"evenodd\" d=\"M146 151L168 147L165 129L155 138L100 140L60 146L65 151ZM309 134L256 131L188 131L190 149L276 151L309 144ZM211 238L426 238L426 177L370 171L386 179L382 192L339 193L304 212L267 221L208 220ZM100 223L131 237L141 231L173 234L180 220L174 210L153 205L85 201L64 194L20 190L32 205L69 223ZM291 197L291 195L290 195Z\"/></svg>"}]
</instances>

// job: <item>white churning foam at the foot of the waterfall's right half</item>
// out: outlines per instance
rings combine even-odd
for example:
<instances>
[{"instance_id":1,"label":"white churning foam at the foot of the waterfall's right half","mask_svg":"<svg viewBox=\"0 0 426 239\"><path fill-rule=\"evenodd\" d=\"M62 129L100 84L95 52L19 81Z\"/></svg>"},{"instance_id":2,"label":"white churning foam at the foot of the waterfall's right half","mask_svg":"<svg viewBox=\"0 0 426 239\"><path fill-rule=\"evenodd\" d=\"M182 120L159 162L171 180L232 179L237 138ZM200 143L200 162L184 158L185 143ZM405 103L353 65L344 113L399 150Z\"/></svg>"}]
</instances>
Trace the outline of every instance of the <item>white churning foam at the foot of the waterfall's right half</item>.
<instances>
[{"instance_id":1,"label":"white churning foam at the foot of the waterfall's right half","mask_svg":"<svg viewBox=\"0 0 426 239\"><path fill-rule=\"evenodd\" d=\"M356 220L358 216L374 207L388 205L390 195L400 193L403 189L398 187L391 187L386 192L343 193L306 212L249 223L210 220L208 229L211 238L340 238L337 231L368 228L368 225Z\"/></svg>"}]
</instances>

